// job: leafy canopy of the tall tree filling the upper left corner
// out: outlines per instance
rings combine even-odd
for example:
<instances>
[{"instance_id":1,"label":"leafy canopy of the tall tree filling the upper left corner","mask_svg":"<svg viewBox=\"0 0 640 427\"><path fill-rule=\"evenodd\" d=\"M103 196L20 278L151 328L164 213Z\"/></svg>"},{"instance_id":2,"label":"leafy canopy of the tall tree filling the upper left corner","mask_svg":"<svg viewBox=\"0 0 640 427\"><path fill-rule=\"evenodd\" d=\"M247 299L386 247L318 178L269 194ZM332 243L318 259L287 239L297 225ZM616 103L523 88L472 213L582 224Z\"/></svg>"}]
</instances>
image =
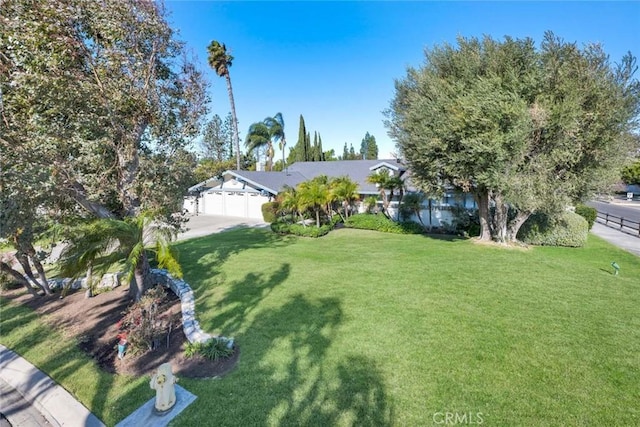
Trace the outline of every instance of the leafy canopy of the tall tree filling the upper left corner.
<instances>
[{"instance_id":1,"label":"leafy canopy of the tall tree filling the upper left corner","mask_svg":"<svg viewBox=\"0 0 640 427\"><path fill-rule=\"evenodd\" d=\"M0 143L40 172L13 191L99 218L170 217L182 195L162 188L192 179L176 167L192 168L207 98L162 4L7 0L0 21Z\"/></svg>"}]
</instances>

